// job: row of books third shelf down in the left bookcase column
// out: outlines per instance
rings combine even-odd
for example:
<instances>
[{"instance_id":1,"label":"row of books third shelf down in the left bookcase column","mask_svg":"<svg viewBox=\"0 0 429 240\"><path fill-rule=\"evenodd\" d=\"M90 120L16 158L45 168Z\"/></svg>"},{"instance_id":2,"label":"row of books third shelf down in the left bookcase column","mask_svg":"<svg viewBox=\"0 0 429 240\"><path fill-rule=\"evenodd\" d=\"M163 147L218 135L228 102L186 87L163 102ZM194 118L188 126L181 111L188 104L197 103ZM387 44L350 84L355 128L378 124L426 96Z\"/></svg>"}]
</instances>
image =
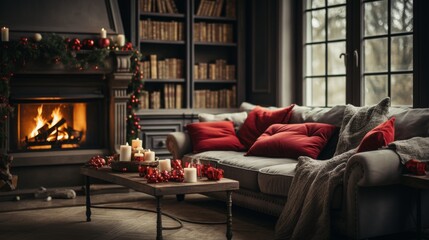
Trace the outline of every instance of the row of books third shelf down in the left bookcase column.
<instances>
[{"instance_id":1,"label":"row of books third shelf down in the left bookcase column","mask_svg":"<svg viewBox=\"0 0 429 240\"><path fill-rule=\"evenodd\" d=\"M143 79L180 79L184 78L184 61L179 58L158 60L156 54L149 55L149 60L141 61L140 72Z\"/></svg>"}]
</instances>

